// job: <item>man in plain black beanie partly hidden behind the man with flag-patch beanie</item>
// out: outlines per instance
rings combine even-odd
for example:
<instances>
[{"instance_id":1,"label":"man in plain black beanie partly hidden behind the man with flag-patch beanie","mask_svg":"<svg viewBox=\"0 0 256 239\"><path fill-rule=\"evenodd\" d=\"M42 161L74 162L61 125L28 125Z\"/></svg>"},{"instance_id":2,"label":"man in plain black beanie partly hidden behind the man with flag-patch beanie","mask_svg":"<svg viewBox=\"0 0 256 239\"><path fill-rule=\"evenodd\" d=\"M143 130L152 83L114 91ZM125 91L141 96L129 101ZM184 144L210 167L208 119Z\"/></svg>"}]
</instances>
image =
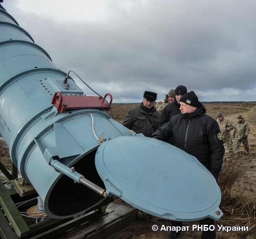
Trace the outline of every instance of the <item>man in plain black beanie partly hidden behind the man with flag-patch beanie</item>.
<instances>
[{"instance_id":1,"label":"man in plain black beanie partly hidden behind the man with flag-patch beanie","mask_svg":"<svg viewBox=\"0 0 256 239\"><path fill-rule=\"evenodd\" d=\"M171 104L168 104L167 106L165 106L165 108L163 109L158 127L163 126L164 124L169 122L169 120L173 115L180 114L180 98L182 97L182 95L186 93L187 93L186 86L180 85L175 88L174 101Z\"/></svg>"}]
</instances>

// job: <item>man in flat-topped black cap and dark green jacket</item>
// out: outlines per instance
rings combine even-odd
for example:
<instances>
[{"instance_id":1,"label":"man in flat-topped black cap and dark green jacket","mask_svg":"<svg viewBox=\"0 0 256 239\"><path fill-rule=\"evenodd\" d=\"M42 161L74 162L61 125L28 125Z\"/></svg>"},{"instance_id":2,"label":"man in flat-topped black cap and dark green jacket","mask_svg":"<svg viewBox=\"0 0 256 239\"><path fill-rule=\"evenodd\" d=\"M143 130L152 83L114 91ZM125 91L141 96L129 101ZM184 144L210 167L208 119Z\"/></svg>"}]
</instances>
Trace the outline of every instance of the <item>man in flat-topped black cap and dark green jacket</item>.
<instances>
[{"instance_id":1,"label":"man in flat-topped black cap and dark green jacket","mask_svg":"<svg viewBox=\"0 0 256 239\"><path fill-rule=\"evenodd\" d=\"M135 133L143 133L146 137L151 137L158 129L161 115L154 106L156 97L155 92L145 91L143 101L139 106L129 109L122 125Z\"/></svg>"}]
</instances>

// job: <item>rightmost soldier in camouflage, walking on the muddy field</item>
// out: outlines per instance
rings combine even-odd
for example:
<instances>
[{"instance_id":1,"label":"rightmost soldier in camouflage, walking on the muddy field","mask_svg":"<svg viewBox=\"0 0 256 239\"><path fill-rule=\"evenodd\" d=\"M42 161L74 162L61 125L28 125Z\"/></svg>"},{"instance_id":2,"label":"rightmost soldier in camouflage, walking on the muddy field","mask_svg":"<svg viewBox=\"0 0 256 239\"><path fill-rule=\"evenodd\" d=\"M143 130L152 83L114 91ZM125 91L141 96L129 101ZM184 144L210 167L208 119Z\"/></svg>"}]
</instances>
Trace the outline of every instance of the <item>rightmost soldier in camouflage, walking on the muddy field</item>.
<instances>
[{"instance_id":1,"label":"rightmost soldier in camouflage, walking on the muddy field","mask_svg":"<svg viewBox=\"0 0 256 239\"><path fill-rule=\"evenodd\" d=\"M243 146L245 147L245 153L249 154L249 144L248 144L248 134L250 132L249 124L245 121L245 119L241 116L237 116L237 122L234 127L234 134L233 138L236 139L236 145L235 145L235 154L238 153L241 142L243 143Z\"/></svg>"}]
</instances>

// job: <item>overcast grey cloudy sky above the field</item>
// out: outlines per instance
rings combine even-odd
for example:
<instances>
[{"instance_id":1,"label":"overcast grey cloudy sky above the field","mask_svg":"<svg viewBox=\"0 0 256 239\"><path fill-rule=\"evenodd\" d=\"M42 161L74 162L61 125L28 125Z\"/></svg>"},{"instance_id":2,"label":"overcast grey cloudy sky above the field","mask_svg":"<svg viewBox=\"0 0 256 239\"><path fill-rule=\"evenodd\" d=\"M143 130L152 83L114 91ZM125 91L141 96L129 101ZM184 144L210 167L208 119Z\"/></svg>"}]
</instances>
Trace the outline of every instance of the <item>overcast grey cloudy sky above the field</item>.
<instances>
[{"instance_id":1,"label":"overcast grey cloudy sky above the field","mask_svg":"<svg viewBox=\"0 0 256 239\"><path fill-rule=\"evenodd\" d=\"M256 101L255 0L4 0L2 6L59 69L74 70L114 103L141 102L145 90L163 100L180 84L200 101Z\"/></svg>"}]
</instances>

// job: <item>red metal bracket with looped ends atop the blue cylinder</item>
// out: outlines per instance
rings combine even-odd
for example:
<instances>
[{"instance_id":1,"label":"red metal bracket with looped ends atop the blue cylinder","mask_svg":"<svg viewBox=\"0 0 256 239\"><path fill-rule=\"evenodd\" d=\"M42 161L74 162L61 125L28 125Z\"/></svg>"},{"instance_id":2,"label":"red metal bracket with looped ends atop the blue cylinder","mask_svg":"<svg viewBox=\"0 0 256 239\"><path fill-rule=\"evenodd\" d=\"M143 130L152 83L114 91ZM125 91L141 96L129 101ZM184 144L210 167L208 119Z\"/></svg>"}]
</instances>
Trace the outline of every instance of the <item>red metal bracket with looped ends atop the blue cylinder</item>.
<instances>
[{"instance_id":1,"label":"red metal bracket with looped ends atop the blue cylinder","mask_svg":"<svg viewBox=\"0 0 256 239\"><path fill-rule=\"evenodd\" d=\"M104 100L107 96L110 97L109 103ZM104 109L109 111L111 109L112 95L106 93L104 99L98 96L62 95L59 91L56 91L52 97L52 104L61 113L65 113L69 109Z\"/></svg>"}]
</instances>

